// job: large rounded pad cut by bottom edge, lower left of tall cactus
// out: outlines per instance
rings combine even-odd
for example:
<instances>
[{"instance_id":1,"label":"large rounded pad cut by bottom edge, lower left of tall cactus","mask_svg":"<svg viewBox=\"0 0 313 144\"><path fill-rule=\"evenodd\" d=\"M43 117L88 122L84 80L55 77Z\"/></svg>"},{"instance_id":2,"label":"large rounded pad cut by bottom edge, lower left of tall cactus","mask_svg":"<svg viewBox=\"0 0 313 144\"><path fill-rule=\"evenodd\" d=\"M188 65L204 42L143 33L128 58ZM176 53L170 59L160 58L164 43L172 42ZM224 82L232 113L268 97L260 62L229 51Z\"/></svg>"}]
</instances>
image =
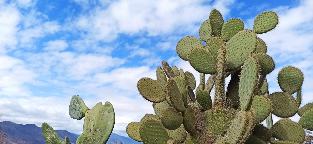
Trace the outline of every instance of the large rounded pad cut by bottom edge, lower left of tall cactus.
<instances>
[{"instance_id":1,"label":"large rounded pad cut by bottom edge, lower left of tall cactus","mask_svg":"<svg viewBox=\"0 0 313 144\"><path fill-rule=\"evenodd\" d=\"M152 118L142 122L139 133L144 144L167 144L170 139L162 123Z\"/></svg>"}]
</instances>

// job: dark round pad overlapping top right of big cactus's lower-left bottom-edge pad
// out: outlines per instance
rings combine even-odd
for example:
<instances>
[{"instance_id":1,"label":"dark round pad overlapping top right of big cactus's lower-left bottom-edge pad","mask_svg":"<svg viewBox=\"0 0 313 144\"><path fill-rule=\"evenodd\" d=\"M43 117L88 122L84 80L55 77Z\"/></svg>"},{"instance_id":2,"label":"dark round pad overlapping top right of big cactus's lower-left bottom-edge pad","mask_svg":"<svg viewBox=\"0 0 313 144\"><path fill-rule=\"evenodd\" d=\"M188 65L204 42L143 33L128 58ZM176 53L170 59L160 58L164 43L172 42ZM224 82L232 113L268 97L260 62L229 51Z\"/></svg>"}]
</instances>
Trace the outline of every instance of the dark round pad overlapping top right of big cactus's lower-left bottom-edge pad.
<instances>
[{"instance_id":1,"label":"dark round pad overlapping top right of big cactus's lower-left bottom-edge pad","mask_svg":"<svg viewBox=\"0 0 313 144\"><path fill-rule=\"evenodd\" d=\"M182 125L182 114L177 112L175 108L167 107L162 110L160 116L161 122L168 130L175 130Z\"/></svg>"}]
</instances>

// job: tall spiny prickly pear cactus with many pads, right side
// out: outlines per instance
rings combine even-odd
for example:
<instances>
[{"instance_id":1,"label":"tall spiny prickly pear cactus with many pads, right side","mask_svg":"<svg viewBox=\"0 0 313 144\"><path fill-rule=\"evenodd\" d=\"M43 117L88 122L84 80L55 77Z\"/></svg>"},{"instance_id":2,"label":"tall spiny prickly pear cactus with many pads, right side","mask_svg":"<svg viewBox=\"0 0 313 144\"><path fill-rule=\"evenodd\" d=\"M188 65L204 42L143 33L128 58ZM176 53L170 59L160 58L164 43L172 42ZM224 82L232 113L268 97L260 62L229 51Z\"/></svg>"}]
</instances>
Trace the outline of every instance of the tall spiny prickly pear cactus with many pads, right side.
<instances>
[{"instance_id":1,"label":"tall spiny prickly pear cactus with many pads, right side","mask_svg":"<svg viewBox=\"0 0 313 144\"><path fill-rule=\"evenodd\" d=\"M245 30L242 20L232 18L224 23L221 13L213 9L199 30L205 46L194 36L177 43L179 57L200 72L198 87L190 72L162 61L156 80L142 78L137 84L156 114L129 123L127 134L144 144L303 143L303 128L313 130L313 103L299 109L302 72L292 66L283 68L278 74L282 92L268 91L266 75L275 63L257 34L274 29L277 23L275 12L262 12L254 20L253 31ZM207 82L205 74L210 74ZM282 119L264 127L260 122L272 113ZM296 113L301 116L299 123L289 119Z\"/></svg>"}]
</instances>

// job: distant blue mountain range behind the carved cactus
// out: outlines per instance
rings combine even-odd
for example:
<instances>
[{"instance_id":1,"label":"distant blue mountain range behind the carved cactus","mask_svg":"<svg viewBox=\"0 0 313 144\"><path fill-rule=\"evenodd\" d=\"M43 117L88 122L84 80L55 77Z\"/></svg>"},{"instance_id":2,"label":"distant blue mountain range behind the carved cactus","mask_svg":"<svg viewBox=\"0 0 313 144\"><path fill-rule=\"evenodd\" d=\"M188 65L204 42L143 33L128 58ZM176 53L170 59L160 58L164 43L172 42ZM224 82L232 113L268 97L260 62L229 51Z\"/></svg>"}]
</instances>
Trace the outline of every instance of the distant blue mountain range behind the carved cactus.
<instances>
[{"instance_id":1,"label":"distant blue mountain range behind the carved cactus","mask_svg":"<svg viewBox=\"0 0 313 144\"><path fill-rule=\"evenodd\" d=\"M44 136L42 135L41 127L37 127L35 124L17 124L14 122L3 121L0 123L5 126L4 133L7 134L7 144L45 144ZM79 135L70 133L66 130L55 130L62 140L64 137L69 137L69 141L73 144L76 143ZM142 144L130 137L123 137L118 134L112 133L107 144L114 144L115 142L123 142L124 144Z\"/></svg>"}]
</instances>

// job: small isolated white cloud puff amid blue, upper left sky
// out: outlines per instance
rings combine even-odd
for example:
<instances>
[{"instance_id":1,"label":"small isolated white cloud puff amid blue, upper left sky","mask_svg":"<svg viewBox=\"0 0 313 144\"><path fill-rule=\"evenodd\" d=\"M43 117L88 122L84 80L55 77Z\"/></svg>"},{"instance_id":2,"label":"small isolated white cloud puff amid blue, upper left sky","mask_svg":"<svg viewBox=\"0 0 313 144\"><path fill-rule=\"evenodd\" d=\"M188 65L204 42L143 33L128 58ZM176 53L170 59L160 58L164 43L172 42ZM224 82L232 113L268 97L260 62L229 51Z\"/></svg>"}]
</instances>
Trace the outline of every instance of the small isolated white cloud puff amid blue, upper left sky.
<instances>
[{"instance_id":1,"label":"small isolated white cloud puff amid blue, upper left sky","mask_svg":"<svg viewBox=\"0 0 313 144\"><path fill-rule=\"evenodd\" d=\"M63 51L67 47L69 47L66 41L63 41L63 40L48 41L44 45L46 47L44 47L43 50L46 50L46 51Z\"/></svg>"}]
</instances>

